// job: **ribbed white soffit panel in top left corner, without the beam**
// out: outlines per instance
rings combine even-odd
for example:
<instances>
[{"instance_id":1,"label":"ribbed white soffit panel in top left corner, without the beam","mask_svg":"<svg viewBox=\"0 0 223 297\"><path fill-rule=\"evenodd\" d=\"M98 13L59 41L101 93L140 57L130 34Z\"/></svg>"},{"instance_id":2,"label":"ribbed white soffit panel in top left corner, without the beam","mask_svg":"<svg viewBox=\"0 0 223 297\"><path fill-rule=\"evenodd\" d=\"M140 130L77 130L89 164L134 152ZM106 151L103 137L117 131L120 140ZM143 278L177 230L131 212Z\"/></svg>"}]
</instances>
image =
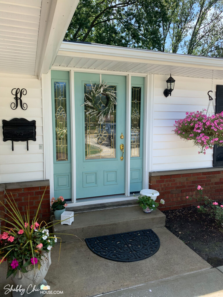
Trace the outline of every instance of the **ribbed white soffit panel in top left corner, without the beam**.
<instances>
[{"instance_id":1,"label":"ribbed white soffit panel in top left corner, without the beam","mask_svg":"<svg viewBox=\"0 0 223 297\"><path fill-rule=\"evenodd\" d=\"M42 0L0 0L0 71L34 74Z\"/></svg>"}]
</instances>

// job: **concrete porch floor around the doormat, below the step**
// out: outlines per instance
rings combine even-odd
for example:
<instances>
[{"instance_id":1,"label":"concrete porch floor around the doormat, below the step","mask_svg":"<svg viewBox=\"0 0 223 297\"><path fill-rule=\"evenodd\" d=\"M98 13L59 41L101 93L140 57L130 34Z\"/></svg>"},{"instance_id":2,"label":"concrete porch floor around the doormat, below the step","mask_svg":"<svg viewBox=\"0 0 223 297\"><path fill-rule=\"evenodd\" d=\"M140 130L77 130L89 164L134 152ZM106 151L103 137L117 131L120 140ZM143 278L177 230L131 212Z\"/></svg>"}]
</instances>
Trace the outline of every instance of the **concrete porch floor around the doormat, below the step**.
<instances>
[{"instance_id":1,"label":"concrete porch floor around the doormat, below the step","mask_svg":"<svg viewBox=\"0 0 223 297\"><path fill-rule=\"evenodd\" d=\"M56 244L45 279L51 290L63 290L63 294L46 296L223 296L220 269L211 268L166 228L153 230L160 238L160 249L152 257L138 262L106 260L92 253L85 241L73 241L62 243L58 264L59 244ZM6 280L6 272L4 262L0 270L0 296L9 297L11 293L4 295L3 289L12 284Z\"/></svg>"}]
</instances>

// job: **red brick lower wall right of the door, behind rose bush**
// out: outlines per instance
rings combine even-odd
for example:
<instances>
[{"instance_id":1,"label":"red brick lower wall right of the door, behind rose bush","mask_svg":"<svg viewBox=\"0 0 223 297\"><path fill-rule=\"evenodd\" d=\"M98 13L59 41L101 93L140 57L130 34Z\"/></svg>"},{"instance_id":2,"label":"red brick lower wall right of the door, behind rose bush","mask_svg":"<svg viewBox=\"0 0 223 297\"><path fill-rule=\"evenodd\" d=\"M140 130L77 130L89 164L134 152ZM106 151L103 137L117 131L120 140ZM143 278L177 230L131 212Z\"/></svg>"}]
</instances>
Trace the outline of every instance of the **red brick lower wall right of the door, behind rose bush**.
<instances>
[{"instance_id":1,"label":"red brick lower wall right of the door, behind rose bush","mask_svg":"<svg viewBox=\"0 0 223 297\"><path fill-rule=\"evenodd\" d=\"M196 200L186 199L195 194L196 185L204 188L203 194L215 201L223 200L223 171L180 173L169 175L149 176L150 189L157 190L160 199L160 210L177 209L191 205L198 205Z\"/></svg>"}]
</instances>

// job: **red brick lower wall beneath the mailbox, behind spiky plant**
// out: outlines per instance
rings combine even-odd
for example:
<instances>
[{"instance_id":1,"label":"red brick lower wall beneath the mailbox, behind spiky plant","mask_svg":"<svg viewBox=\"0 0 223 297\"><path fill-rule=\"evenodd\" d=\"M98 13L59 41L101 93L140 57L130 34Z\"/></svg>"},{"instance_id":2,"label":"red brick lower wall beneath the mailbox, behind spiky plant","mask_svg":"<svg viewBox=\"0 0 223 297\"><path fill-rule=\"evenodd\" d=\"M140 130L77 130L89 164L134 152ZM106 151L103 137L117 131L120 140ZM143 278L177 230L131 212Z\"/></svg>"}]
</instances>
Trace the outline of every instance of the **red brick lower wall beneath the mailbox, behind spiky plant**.
<instances>
[{"instance_id":1,"label":"red brick lower wall beneath the mailbox, behind spiky plant","mask_svg":"<svg viewBox=\"0 0 223 297\"><path fill-rule=\"evenodd\" d=\"M40 200L42 198L45 188L46 188L46 191L43 196L43 200L42 200L39 212L38 212L38 218L39 218L38 222L41 222L43 220L45 222L49 222L49 220L50 220L50 187L49 186L7 189L6 193L8 194L9 198L11 198L10 200L12 200L12 197L14 198L15 203L18 206L18 209L23 216L23 219L24 219L24 213L26 214L26 206L28 208L28 203L29 203L30 219L32 220L36 214L37 208L39 206L39 203L40 203ZM0 196L1 201L3 200L4 205L8 208L8 205L5 200L5 199L8 199L7 195L4 192L0 192L0 194L1 193L2 193L2 195ZM3 208L3 206L1 206L0 207L0 211L1 211L0 216L4 217L7 220L12 221L7 216L7 214L2 213L2 210L4 212L8 213L7 209Z\"/></svg>"}]
</instances>

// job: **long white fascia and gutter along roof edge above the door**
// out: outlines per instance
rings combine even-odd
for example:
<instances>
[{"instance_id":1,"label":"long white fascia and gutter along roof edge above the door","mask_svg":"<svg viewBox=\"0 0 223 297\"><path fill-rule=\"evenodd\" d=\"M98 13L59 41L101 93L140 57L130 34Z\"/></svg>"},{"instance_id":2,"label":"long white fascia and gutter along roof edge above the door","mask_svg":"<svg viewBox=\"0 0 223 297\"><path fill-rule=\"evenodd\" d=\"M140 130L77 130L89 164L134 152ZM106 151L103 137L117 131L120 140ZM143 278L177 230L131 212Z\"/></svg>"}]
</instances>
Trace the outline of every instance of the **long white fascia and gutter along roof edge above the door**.
<instances>
[{"instance_id":1,"label":"long white fascia and gutter along roof edge above the door","mask_svg":"<svg viewBox=\"0 0 223 297\"><path fill-rule=\"evenodd\" d=\"M223 59L219 58L65 41L62 42L58 55L213 70L222 70L223 67Z\"/></svg>"}]
</instances>

